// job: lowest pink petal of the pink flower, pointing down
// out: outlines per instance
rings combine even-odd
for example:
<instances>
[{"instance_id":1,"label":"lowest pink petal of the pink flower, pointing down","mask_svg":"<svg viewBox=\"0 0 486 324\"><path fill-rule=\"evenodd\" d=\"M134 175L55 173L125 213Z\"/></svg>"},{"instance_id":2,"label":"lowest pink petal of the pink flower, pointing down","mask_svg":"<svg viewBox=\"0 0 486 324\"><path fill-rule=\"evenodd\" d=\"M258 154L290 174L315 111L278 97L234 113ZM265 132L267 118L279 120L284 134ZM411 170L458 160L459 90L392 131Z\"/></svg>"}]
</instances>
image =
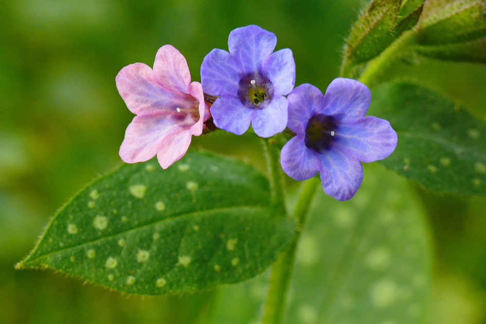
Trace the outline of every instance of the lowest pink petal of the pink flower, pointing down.
<instances>
[{"instance_id":1,"label":"lowest pink petal of the pink flower, pointing down","mask_svg":"<svg viewBox=\"0 0 486 324\"><path fill-rule=\"evenodd\" d=\"M170 167L175 161L186 154L191 144L191 132L189 130L171 133L160 143L157 153L158 163L163 169Z\"/></svg>"}]
</instances>

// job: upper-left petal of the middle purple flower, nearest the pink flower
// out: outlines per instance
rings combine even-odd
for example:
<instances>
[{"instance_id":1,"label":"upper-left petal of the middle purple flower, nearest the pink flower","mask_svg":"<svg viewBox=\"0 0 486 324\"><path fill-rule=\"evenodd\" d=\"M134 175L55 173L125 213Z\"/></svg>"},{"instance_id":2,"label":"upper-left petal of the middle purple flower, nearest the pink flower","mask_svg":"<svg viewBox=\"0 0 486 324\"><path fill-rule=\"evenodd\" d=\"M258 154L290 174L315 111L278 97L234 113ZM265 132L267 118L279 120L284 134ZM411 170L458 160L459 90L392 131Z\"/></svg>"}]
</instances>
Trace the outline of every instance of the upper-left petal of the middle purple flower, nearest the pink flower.
<instances>
[{"instance_id":1,"label":"upper-left petal of the middle purple flower, nearest the pink flower","mask_svg":"<svg viewBox=\"0 0 486 324\"><path fill-rule=\"evenodd\" d=\"M201 83L204 92L211 96L238 95L240 72L231 54L215 48L201 65Z\"/></svg>"}]
</instances>

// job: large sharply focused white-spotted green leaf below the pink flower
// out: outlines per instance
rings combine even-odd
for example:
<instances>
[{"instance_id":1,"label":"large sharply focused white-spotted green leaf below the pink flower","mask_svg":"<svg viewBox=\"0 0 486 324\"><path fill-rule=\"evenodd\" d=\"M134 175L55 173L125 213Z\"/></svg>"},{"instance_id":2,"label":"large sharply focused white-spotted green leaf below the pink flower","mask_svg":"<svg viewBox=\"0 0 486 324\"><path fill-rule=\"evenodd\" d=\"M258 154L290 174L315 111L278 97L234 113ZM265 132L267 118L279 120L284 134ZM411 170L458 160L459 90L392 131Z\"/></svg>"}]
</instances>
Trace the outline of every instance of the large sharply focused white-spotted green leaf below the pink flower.
<instances>
[{"instance_id":1,"label":"large sharply focused white-spotted green leaf below the pink flower","mask_svg":"<svg viewBox=\"0 0 486 324\"><path fill-rule=\"evenodd\" d=\"M51 268L141 295L193 292L261 273L292 238L266 178L188 152L167 170L122 165L71 199L17 268Z\"/></svg>"}]
</instances>

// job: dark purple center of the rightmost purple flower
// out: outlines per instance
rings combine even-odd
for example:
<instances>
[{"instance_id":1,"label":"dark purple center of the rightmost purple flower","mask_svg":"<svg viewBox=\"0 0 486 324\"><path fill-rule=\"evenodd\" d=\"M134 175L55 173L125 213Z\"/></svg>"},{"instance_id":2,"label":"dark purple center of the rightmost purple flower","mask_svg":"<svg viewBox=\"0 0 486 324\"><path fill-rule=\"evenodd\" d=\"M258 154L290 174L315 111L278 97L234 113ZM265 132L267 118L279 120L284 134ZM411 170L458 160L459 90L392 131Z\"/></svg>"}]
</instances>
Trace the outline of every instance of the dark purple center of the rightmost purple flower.
<instances>
[{"instance_id":1,"label":"dark purple center of the rightmost purple flower","mask_svg":"<svg viewBox=\"0 0 486 324\"><path fill-rule=\"evenodd\" d=\"M305 128L305 146L317 152L327 150L336 138L336 126L334 117L314 115Z\"/></svg>"}]
</instances>

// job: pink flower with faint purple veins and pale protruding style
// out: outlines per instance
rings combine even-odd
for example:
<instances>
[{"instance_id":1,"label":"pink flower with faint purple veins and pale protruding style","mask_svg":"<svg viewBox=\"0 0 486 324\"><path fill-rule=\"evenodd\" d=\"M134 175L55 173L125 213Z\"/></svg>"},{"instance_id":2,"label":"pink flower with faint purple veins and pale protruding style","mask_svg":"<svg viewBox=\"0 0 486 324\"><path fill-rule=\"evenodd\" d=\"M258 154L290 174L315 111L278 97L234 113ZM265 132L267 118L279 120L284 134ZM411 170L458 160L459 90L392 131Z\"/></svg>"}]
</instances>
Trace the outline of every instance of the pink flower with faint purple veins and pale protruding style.
<instances>
[{"instance_id":1,"label":"pink flower with faint purple veins and pale protruding style","mask_svg":"<svg viewBox=\"0 0 486 324\"><path fill-rule=\"evenodd\" d=\"M171 45L157 51L153 70L143 63L121 69L116 87L137 115L121 143L123 161L143 162L157 155L166 169L184 156L191 136L201 135L210 117L201 83L190 82L186 59Z\"/></svg>"}]
</instances>

